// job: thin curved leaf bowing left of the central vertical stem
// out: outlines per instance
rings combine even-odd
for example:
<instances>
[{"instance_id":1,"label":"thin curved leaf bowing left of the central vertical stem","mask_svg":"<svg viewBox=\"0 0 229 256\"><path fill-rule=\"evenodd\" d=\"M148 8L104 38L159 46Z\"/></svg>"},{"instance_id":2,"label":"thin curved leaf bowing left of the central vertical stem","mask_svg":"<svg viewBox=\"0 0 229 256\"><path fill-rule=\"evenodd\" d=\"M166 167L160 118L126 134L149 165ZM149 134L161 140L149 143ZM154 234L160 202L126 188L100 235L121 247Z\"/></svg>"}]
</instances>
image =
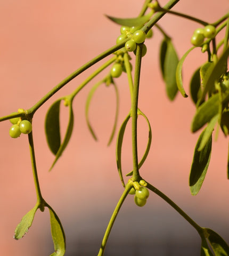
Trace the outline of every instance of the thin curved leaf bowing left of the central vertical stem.
<instances>
[{"instance_id":1,"label":"thin curved leaf bowing left of the central vertical stem","mask_svg":"<svg viewBox=\"0 0 229 256\"><path fill-rule=\"evenodd\" d=\"M118 136L117 136L117 142L116 142L116 163L117 163L117 167L118 167L119 177L120 177L121 183L124 187L125 187L125 183L124 183L124 179L122 176L122 170L121 170L121 147L122 147L122 141L124 138L124 133L126 130L126 125L129 121L129 118L130 118L130 113L127 115L124 122L121 124L121 127L118 132Z\"/></svg>"}]
</instances>

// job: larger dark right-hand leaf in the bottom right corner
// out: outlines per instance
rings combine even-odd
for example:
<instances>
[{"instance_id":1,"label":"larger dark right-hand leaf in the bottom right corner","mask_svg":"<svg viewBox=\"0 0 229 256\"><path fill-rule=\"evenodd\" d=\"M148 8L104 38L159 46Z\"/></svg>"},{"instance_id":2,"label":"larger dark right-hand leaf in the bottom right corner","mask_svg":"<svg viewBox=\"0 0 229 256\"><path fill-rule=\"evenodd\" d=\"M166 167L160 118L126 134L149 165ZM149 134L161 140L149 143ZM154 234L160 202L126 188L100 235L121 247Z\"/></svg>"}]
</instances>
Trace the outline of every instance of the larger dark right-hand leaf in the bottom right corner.
<instances>
[{"instance_id":1,"label":"larger dark right-hand leaf in the bottom right corner","mask_svg":"<svg viewBox=\"0 0 229 256\"><path fill-rule=\"evenodd\" d=\"M208 233L208 241L216 256L229 256L229 246L215 231L205 228Z\"/></svg>"}]
</instances>

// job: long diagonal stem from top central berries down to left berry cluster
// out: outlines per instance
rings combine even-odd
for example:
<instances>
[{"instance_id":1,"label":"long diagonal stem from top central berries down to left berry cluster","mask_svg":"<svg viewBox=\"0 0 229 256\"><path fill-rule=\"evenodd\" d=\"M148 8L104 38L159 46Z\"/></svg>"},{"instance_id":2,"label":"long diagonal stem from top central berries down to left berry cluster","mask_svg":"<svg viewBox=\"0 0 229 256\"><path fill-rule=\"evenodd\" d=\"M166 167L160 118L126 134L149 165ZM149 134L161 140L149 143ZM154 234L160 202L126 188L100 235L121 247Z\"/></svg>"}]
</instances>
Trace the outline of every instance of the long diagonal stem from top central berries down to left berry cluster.
<instances>
[{"instance_id":1,"label":"long diagonal stem from top central berries down to left berry cluster","mask_svg":"<svg viewBox=\"0 0 229 256\"><path fill-rule=\"evenodd\" d=\"M111 47L107 51L104 51L103 53L97 55L97 57L95 57L92 60L90 60L87 63L85 63L85 65L81 66L76 71L74 71L72 74L70 74L68 77L63 79L62 82L60 82L58 85L56 85L50 92L48 92L42 99L40 99L33 107L28 109L28 112L31 113L32 115L34 115L36 110L40 106L42 106L48 99L50 99L56 92L58 92L64 85L69 83L73 78L77 77L79 74L83 73L83 71L85 71L89 67L93 66L95 63L97 63L100 60L104 59L105 57L107 57L111 53L119 50L121 47L123 47L125 45L125 43L126 43L126 41L124 41L124 42L122 42L120 44L114 45L113 47Z\"/></svg>"}]
</instances>

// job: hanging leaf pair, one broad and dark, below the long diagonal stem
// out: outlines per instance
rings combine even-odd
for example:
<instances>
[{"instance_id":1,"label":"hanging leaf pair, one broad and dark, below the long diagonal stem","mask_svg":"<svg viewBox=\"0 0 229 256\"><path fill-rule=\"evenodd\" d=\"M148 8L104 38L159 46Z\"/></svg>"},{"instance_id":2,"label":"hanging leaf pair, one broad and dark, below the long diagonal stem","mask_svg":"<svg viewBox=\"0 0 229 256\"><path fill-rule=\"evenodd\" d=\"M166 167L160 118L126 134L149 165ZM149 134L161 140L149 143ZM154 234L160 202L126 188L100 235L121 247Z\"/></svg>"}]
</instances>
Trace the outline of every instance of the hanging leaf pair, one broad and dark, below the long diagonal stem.
<instances>
[{"instance_id":1,"label":"hanging leaf pair, one broad and dark, below the long diagonal stem","mask_svg":"<svg viewBox=\"0 0 229 256\"><path fill-rule=\"evenodd\" d=\"M52 106L48 109L46 117L45 117L45 134L48 143L48 147L55 155L55 160L50 168L53 168L55 163L58 161L59 157L62 155L64 149L66 149L68 142L71 138L72 130L73 130L73 110L72 110L72 100L68 101L69 108L69 121L66 130L66 134L64 135L64 139L61 142L60 135L60 103L64 100L64 98L56 100Z\"/></svg>"}]
</instances>

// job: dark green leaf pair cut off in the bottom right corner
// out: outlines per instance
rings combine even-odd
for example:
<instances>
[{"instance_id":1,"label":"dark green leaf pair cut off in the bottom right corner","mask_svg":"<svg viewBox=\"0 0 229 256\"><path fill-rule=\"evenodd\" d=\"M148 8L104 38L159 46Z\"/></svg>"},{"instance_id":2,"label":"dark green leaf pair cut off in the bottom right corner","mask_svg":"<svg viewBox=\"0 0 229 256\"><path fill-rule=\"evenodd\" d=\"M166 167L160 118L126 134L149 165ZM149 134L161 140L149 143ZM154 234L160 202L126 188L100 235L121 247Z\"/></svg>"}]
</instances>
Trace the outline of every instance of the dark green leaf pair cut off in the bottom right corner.
<instances>
[{"instance_id":1,"label":"dark green leaf pair cut off in the bottom right corner","mask_svg":"<svg viewBox=\"0 0 229 256\"><path fill-rule=\"evenodd\" d=\"M222 237L209 228L203 228L205 237L202 238L201 256L229 256L229 247ZM208 245L210 244L210 247ZM214 252L214 254L212 253Z\"/></svg>"}]
</instances>

